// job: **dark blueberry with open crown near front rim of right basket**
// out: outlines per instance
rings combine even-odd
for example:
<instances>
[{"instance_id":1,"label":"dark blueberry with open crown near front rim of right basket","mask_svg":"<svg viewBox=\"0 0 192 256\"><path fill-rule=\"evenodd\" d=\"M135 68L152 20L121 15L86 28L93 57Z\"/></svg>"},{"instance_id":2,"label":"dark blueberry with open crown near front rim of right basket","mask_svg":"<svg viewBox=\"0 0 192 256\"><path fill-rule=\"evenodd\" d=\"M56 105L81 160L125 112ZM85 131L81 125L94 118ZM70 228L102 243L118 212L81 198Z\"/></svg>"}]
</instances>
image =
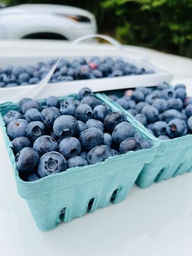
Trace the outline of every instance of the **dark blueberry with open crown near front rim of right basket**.
<instances>
[{"instance_id":1,"label":"dark blueberry with open crown near front rim of right basket","mask_svg":"<svg viewBox=\"0 0 192 256\"><path fill-rule=\"evenodd\" d=\"M170 138L177 138L186 135L188 132L188 127L184 121L180 119L173 119L168 123L166 132Z\"/></svg>"}]
</instances>

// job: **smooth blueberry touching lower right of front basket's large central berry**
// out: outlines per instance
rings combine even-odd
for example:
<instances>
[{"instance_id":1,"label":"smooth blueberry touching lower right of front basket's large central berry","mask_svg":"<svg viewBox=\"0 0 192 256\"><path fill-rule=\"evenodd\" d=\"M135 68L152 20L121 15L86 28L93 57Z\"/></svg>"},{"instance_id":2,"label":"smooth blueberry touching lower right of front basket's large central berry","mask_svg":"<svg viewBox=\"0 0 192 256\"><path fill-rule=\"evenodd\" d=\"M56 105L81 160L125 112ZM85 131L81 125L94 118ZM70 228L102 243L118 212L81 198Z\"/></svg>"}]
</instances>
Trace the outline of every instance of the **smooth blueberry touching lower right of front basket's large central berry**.
<instances>
[{"instance_id":1,"label":"smooth blueberry touching lower right of front basket's large central berry","mask_svg":"<svg viewBox=\"0 0 192 256\"><path fill-rule=\"evenodd\" d=\"M90 150L97 145L103 144L104 134L96 127L89 128L81 132L79 141L85 150Z\"/></svg>"}]
</instances>

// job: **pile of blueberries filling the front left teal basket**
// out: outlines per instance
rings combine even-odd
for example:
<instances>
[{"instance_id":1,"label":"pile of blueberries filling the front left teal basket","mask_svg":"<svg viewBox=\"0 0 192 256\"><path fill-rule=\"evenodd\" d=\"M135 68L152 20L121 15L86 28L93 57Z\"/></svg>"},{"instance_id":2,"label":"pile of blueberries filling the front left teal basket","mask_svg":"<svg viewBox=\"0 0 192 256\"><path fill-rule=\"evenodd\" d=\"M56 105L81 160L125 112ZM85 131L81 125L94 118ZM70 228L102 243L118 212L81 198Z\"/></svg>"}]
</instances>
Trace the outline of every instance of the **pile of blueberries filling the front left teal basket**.
<instances>
[{"instance_id":1,"label":"pile of blueberries filling the front left teal basket","mask_svg":"<svg viewBox=\"0 0 192 256\"><path fill-rule=\"evenodd\" d=\"M51 96L42 104L22 99L3 120L26 181L152 147L124 113L111 111L89 88L81 89L77 99Z\"/></svg>"}]
</instances>

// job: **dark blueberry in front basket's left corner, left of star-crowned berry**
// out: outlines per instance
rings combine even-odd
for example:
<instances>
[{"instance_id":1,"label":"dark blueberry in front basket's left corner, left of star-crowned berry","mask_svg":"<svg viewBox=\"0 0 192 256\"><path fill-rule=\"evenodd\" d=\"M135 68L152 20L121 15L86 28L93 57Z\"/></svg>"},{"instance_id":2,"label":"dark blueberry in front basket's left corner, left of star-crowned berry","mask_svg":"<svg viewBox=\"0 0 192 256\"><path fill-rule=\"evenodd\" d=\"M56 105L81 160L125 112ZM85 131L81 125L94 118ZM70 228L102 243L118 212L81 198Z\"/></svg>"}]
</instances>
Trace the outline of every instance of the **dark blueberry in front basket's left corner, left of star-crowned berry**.
<instances>
[{"instance_id":1,"label":"dark blueberry in front basket's left corner, left of star-crowned berry","mask_svg":"<svg viewBox=\"0 0 192 256\"><path fill-rule=\"evenodd\" d=\"M20 173L30 174L36 171L39 156L33 148L26 147L17 153L15 162Z\"/></svg>"}]
</instances>

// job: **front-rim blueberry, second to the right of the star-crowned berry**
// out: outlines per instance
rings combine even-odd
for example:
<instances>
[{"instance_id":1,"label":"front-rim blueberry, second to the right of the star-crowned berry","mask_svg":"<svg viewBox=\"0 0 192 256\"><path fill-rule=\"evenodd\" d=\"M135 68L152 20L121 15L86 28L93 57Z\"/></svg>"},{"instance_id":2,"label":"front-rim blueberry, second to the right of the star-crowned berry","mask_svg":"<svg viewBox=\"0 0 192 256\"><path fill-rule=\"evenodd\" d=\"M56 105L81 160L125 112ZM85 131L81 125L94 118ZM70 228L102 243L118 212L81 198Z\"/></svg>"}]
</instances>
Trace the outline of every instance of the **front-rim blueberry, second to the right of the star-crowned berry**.
<instances>
[{"instance_id":1,"label":"front-rim blueberry, second to the right of the star-crowned berry","mask_svg":"<svg viewBox=\"0 0 192 256\"><path fill-rule=\"evenodd\" d=\"M100 145L92 148L92 150L88 152L87 161L89 164L96 164L112 156L115 156L115 154L111 148L106 145Z\"/></svg>"}]
</instances>

